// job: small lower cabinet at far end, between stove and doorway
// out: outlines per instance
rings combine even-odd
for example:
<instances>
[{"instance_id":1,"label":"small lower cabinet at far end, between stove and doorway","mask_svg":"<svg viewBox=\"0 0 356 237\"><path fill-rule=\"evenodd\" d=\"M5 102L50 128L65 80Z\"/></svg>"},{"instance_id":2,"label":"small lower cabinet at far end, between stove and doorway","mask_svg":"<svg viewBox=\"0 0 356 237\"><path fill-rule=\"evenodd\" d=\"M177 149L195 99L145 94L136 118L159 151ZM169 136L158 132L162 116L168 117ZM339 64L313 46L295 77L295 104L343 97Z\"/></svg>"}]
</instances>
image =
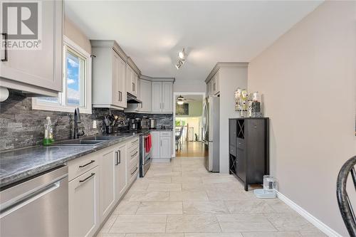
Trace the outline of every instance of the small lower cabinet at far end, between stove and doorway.
<instances>
[{"instance_id":1,"label":"small lower cabinet at far end, between stove and doorway","mask_svg":"<svg viewBox=\"0 0 356 237\"><path fill-rule=\"evenodd\" d=\"M151 132L153 159L172 158L172 131Z\"/></svg>"}]
</instances>

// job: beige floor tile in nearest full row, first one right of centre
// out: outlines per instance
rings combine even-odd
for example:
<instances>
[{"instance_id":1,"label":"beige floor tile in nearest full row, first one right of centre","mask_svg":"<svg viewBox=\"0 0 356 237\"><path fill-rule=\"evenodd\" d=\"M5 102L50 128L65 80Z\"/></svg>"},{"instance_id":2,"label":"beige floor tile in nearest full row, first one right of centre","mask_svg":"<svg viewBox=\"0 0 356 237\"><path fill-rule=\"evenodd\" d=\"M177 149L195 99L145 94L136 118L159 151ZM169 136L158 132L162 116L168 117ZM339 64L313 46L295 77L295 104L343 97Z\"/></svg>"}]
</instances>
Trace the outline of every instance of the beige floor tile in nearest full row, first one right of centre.
<instances>
[{"instance_id":1,"label":"beige floor tile in nearest full row, first one right of centre","mask_svg":"<svg viewBox=\"0 0 356 237\"><path fill-rule=\"evenodd\" d=\"M277 231L263 214L216 215L222 232Z\"/></svg>"}]
</instances>

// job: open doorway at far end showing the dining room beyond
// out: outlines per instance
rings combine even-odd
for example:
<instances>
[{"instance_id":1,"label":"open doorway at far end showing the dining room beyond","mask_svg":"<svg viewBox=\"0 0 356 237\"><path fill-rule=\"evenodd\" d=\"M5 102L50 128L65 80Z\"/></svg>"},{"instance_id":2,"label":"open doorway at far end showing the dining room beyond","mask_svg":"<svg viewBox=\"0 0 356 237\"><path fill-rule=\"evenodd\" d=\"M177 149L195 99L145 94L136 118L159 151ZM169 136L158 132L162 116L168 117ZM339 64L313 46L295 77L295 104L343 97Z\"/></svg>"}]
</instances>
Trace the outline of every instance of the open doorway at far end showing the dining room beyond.
<instances>
[{"instance_id":1,"label":"open doorway at far end showing the dining room beyond","mask_svg":"<svg viewBox=\"0 0 356 237\"><path fill-rule=\"evenodd\" d=\"M175 157L204 157L202 111L205 93L174 93Z\"/></svg>"}]
</instances>

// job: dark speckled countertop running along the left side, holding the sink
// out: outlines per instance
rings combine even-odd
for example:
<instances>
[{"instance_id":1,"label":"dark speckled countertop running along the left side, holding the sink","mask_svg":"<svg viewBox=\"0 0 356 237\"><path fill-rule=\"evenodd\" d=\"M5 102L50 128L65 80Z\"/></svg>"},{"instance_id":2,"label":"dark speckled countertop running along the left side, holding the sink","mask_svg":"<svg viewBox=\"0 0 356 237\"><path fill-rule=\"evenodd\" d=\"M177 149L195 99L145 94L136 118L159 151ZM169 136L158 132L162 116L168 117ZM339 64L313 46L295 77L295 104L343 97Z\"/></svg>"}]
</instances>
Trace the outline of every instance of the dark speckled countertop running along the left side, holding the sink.
<instances>
[{"instance_id":1,"label":"dark speckled countertop running along the left side, holding the sink","mask_svg":"<svg viewBox=\"0 0 356 237\"><path fill-rule=\"evenodd\" d=\"M0 152L0 187L26 179L48 169L66 164L68 160L83 157L105 147L137 137L135 132L110 135L110 139L95 147L92 146L56 146L28 147Z\"/></svg>"}]
</instances>

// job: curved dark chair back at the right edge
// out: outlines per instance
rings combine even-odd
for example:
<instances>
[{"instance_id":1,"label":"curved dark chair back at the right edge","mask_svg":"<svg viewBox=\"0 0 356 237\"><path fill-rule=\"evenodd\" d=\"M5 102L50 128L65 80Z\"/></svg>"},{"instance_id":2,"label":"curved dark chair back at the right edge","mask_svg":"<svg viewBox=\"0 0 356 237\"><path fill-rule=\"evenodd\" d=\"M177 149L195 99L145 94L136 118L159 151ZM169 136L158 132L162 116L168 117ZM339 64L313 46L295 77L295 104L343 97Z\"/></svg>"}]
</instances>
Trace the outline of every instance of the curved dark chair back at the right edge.
<instances>
[{"instance_id":1,"label":"curved dark chair back at the right edge","mask_svg":"<svg viewBox=\"0 0 356 237\"><path fill-rule=\"evenodd\" d=\"M351 237L356 237L356 217L352 209L349 196L346 191L347 177L351 173L352 181L356 191L356 156L352 157L342 165L336 183L337 204L339 204L340 213L344 220L347 231Z\"/></svg>"}]
</instances>

